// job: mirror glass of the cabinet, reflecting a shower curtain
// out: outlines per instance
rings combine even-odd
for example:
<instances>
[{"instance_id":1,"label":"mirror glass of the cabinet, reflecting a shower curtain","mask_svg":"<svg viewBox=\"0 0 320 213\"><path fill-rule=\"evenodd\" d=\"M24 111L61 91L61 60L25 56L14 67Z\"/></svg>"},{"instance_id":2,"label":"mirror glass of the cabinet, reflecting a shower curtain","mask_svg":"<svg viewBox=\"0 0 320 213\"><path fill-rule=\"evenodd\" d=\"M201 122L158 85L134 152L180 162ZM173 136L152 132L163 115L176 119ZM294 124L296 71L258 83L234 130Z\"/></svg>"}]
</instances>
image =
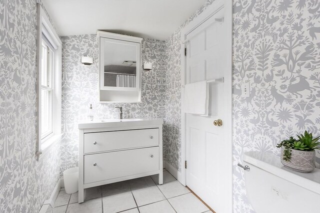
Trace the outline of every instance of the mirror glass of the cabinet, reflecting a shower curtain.
<instances>
[{"instance_id":1,"label":"mirror glass of the cabinet, reflecting a shower curtain","mask_svg":"<svg viewBox=\"0 0 320 213\"><path fill-rule=\"evenodd\" d=\"M135 46L114 42L105 42L104 86L136 86Z\"/></svg>"}]
</instances>

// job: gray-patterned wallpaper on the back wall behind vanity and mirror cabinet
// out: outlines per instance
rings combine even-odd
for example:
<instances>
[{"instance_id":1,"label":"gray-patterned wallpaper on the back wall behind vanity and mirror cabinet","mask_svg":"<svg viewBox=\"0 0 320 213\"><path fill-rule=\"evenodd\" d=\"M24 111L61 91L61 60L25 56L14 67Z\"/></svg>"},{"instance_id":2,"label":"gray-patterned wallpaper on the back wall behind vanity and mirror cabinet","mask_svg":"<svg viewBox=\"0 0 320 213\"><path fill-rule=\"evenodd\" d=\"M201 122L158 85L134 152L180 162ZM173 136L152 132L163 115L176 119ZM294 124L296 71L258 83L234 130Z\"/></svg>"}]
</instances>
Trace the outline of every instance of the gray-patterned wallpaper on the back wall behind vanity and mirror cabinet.
<instances>
[{"instance_id":1,"label":"gray-patterned wallpaper on the back wall behind vanity and mirror cabinet","mask_svg":"<svg viewBox=\"0 0 320 213\"><path fill-rule=\"evenodd\" d=\"M95 118L117 118L115 106L123 107L123 118L165 117L165 42L144 38L141 61L151 61L153 69L142 70L141 103L99 103L98 39L95 34L65 36L62 40L62 141L60 175L78 164L77 121L86 119L92 104ZM93 64L80 63L82 55Z\"/></svg>"}]
</instances>

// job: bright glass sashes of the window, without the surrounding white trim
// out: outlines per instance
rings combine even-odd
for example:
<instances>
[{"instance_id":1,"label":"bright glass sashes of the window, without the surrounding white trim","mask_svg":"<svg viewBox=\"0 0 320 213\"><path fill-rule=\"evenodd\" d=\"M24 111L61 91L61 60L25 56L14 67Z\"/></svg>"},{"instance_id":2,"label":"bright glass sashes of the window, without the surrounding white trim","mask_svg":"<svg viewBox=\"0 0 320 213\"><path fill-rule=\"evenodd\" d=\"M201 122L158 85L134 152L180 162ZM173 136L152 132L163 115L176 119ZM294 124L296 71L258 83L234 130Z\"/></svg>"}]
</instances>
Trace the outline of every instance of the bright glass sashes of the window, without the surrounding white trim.
<instances>
[{"instance_id":1,"label":"bright glass sashes of the window, without the surrounding white trim","mask_svg":"<svg viewBox=\"0 0 320 213\"><path fill-rule=\"evenodd\" d=\"M53 49L42 39L41 48L41 140L52 134L52 61Z\"/></svg>"}]
</instances>

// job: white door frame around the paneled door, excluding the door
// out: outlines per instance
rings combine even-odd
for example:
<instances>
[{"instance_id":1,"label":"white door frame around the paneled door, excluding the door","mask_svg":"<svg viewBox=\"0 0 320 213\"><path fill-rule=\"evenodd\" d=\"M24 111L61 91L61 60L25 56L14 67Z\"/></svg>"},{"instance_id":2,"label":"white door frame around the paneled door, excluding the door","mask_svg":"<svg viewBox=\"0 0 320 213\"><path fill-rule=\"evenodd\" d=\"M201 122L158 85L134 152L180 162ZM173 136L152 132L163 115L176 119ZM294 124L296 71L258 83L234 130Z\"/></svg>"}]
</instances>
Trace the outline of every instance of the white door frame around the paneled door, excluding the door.
<instances>
[{"instance_id":1,"label":"white door frame around the paneled door, excluding the door","mask_svg":"<svg viewBox=\"0 0 320 213\"><path fill-rule=\"evenodd\" d=\"M224 23L226 24L226 40L227 42L227 58L225 59L225 66L227 73L224 74L224 89L226 92L226 119L223 121L225 128L225 140L227 141L227 152L230 156L227 164L229 165L228 173L225 174L225 178L228 179L229 185L225 189L227 191L227 203L229 212L233 212L232 208L232 0L214 0L212 4L208 5L207 8L195 17L190 23L181 29L180 34L180 67L181 67L181 173L178 176L178 181L186 186L186 169L184 168L184 162L186 159L186 141L185 141L185 114L184 114L184 76L185 76L185 56L184 48L186 46L185 38L186 35L202 24L209 17L213 16L222 7L225 8Z\"/></svg>"}]
</instances>

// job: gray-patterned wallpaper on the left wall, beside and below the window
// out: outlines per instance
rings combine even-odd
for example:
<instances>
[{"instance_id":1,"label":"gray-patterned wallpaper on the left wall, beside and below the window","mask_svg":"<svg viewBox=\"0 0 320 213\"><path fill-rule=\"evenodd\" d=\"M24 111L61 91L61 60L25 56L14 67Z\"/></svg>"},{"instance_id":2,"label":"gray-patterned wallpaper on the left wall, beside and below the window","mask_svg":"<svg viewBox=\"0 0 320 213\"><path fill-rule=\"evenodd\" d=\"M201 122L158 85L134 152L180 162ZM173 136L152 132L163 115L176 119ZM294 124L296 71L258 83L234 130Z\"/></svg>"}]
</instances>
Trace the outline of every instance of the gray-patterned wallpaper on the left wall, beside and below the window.
<instances>
[{"instance_id":1,"label":"gray-patterned wallpaper on the left wall, beside and below the window","mask_svg":"<svg viewBox=\"0 0 320 213\"><path fill-rule=\"evenodd\" d=\"M0 1L0 212L35 213L59 178L59 144L35 160L36 0Z\"/></svg>"}]
</instances>

